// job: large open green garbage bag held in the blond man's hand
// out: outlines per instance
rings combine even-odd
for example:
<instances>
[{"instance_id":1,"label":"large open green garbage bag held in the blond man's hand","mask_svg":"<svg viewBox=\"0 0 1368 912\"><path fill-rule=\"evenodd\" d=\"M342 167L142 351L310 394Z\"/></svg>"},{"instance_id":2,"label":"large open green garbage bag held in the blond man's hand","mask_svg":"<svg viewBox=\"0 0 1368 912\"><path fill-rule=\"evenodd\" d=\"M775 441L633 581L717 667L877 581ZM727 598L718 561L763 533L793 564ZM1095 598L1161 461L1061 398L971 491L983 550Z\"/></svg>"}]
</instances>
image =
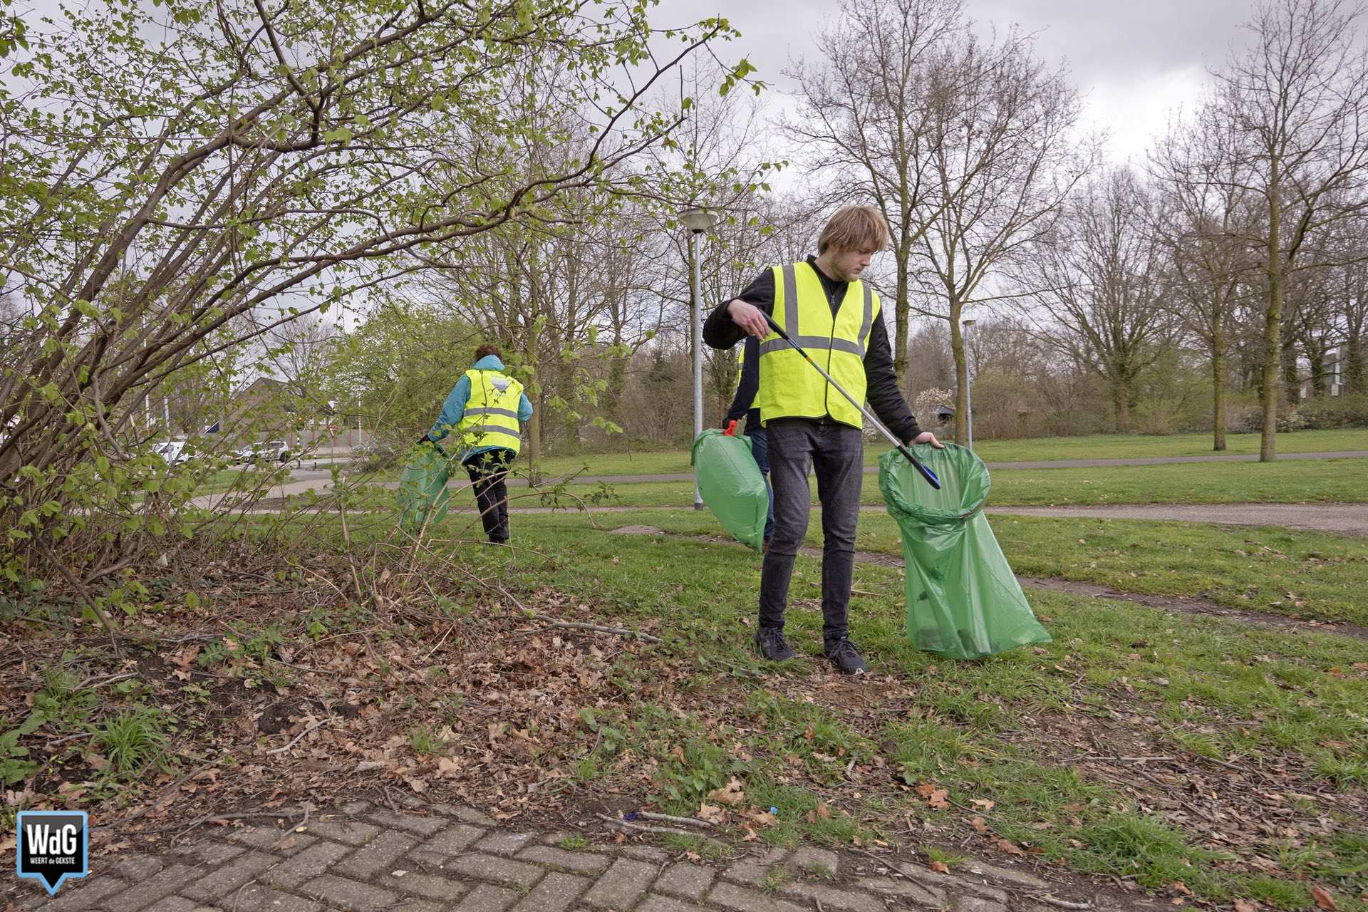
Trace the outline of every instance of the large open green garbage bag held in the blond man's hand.
<instances>
[{"instance_id":1,"label":"large open green garbage bag held in the blond man's hand","mask_svg":"<svg viewBox=\"0 0 1368 912\"><path fill-rule=\"evenodd\" d=\"M936 473L940 491L897 450L878 461L878 488L903 532L907 639L952 659L1049 643L984 517L988 466L953 443L922 443L912 455Z\"/></svg>"}]
</instances>

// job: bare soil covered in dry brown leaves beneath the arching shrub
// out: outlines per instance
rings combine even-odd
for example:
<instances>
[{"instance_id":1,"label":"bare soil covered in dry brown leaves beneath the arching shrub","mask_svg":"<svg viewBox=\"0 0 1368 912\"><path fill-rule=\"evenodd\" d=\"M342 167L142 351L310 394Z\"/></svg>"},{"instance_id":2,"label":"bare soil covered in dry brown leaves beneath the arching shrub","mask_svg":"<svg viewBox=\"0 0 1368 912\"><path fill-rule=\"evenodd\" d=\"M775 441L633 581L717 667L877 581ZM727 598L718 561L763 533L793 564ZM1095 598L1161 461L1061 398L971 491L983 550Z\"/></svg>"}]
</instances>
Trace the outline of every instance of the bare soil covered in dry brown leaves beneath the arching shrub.
<instances>
[{"instance_id":1,"label":"bare soil covered in dry brown leaves beneath the arching shrub","mask_svg":"<svg viewBox=\"0 0 1368 912\"><path fill-rule=\"evenodd\" d=\"M137 615L122 656L89 628L0 626L12 644L0 667L5 719L33 712L48 669L135 684L101 688L85 714L25 737L40 768L11 785L7 804L81 807L119 834L205 814L326 807L358 792L440 796L509 819L554 801L586 745L611 737L595 729L594 710L650 689L614 670L648 644L599 632L620 625L555 592L514 604L453 591L445 611L431 598L382 598L386 607L363 611L331 582L347 577L345 565L317 563L263 596L256 578L208 567L201 607ZM328 626L311 636L317 622ZM659 671L647 658L625 665ZM149 763L116 774L86 734L135 708L160 714L164 773Z\"/></svg>"}]
</instances>

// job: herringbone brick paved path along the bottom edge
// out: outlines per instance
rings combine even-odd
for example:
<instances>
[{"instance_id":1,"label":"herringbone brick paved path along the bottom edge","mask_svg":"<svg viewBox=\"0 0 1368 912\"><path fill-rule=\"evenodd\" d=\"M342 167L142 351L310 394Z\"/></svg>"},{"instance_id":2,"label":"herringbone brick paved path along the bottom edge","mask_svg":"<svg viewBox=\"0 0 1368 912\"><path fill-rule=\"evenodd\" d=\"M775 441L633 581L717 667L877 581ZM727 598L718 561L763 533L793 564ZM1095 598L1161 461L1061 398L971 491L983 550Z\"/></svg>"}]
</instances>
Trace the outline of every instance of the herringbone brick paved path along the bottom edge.
<instances>
[{"instance_id":1,"label":"herringbone brick paved path along the bottom edge","mask_svg":"<svg viewBox=\"0 0 1368 912\"><path fill-rule=\"evenodd\" d=\"M1018 870L966 863L955 874L856 852L757 846L739 859L681 853L605 829L561 848L568 833L497 826L468 808L395 814L353 801L302 829L197 830L185 845L94 857L90 875L48 900L25 881L19 904L44 912L1057 912L1138 908L1078 891L1070 905L1036 897L1055 885ZM654 837L648 837L654 838ZM11 890L12 893L12 890ZM1130 897L1124 897L1130 898ZM1085 907L1083 902L1092 902ZM1148 905L1148 904L1145 904Z\"/></svg>"}]
</instances>

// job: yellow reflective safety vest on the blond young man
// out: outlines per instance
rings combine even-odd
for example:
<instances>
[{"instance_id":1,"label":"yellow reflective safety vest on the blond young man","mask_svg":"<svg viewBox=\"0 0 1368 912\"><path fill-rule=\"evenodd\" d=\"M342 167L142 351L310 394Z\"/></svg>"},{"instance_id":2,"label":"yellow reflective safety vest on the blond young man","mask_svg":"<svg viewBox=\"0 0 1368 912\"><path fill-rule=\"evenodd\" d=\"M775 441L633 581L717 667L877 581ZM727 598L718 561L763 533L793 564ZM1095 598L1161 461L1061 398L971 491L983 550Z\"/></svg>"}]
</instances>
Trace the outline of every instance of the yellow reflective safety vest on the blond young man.
<instances>
[{"instance_id":1,"label":"yellow reflective safety vest on the blond young man","mask_svg":"<svg viewBox=\"0 0 1368 912\"><path fill-rule=\"evenodd\" d=\"M774 269L774 323L807 350L856 402L865 402L865 350L878 317L880 301L865 282L845 286L845 297L832 316L822 280L810 263ZM863 417L845 397L830 388L803 356L778 334L761 342L761 424L774 418L832 418L863 427Z\"/></svg>"}]
</instances>

